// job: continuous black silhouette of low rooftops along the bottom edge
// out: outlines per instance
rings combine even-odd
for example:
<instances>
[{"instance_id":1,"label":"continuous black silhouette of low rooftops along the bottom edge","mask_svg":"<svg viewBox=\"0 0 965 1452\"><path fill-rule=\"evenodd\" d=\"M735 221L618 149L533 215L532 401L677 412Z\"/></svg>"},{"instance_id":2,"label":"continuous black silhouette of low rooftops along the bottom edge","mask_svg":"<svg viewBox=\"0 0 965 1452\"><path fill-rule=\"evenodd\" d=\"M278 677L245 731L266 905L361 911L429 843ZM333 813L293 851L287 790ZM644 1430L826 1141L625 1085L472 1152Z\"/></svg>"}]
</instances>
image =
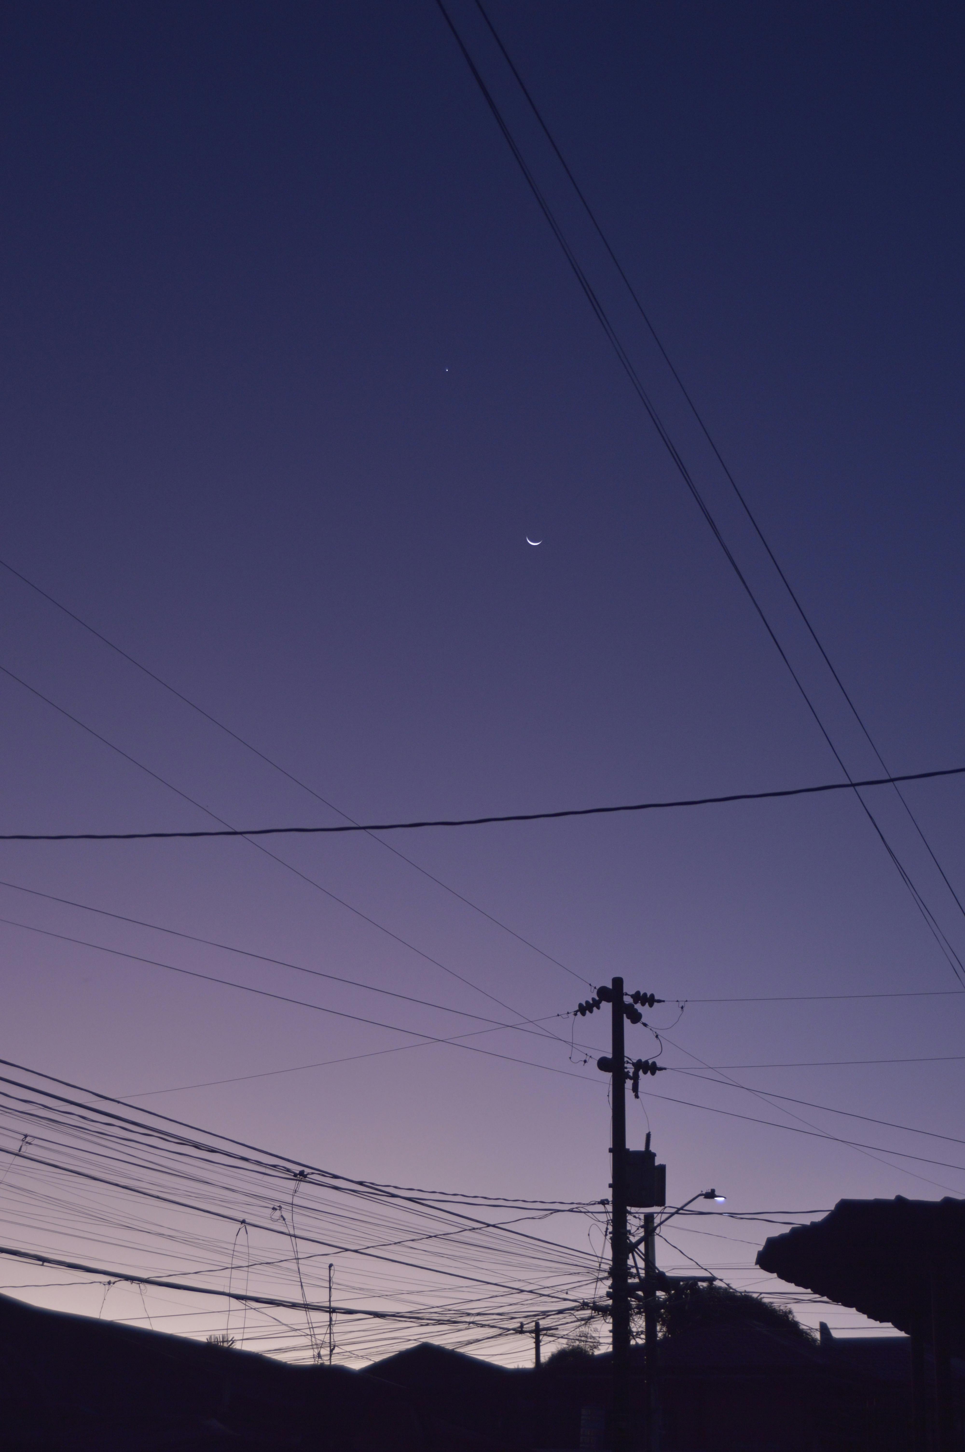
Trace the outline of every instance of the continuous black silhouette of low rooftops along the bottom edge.
<instances>
[{"instance_id":1,"label":"continuous black silhouette of low rooftops along the bottom edge","mask_svg":"<svg viewBox=\"0 0 965 1452\"><path fill-rule=\"evenodd\" d=\"M697 1324L659 1343L662 1452L906 1452L910 1343ZM631 1353L634 1442L643 1353ZM605 1452L609 1356L509 1371L415 1346L289 1366L0 1297L4 1452Z\"/></svg>"}]
</instances>

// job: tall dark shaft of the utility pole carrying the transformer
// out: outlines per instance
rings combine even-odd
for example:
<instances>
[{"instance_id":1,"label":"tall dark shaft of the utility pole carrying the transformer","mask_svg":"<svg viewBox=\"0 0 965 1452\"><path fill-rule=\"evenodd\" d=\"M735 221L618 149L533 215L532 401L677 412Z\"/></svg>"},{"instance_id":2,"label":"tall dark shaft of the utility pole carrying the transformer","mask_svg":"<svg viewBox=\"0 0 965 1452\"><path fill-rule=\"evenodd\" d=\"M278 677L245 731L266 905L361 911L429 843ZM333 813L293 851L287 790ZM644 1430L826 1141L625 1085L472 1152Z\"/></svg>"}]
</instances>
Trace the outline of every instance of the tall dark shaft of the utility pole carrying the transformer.
<instances>
[{"instance_id":1,"label":"tall dark shaft of the utility pole carrying the transformer","mask_svg":"<svg viewBox=\"0 0 965 1452\"><path fill-rule=\"evenodd\" d=\"M612 980L612 1135L609 1294L612 1316L614 1424L612 1452L630 1449L630 1295L627 1286L627 1074L623 979Z\"/></svg>"}]
</instances>

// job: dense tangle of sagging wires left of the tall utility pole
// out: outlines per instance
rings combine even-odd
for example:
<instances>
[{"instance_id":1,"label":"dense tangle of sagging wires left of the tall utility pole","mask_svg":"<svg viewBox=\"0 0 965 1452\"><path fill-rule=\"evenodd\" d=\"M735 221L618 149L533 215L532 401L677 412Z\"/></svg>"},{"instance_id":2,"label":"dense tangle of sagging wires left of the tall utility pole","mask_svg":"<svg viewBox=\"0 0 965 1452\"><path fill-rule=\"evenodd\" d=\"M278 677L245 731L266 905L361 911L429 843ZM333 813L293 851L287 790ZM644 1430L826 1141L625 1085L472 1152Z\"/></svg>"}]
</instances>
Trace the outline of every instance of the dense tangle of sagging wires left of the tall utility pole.
<instances>
[{"instance_id":1,"label":"dense tangle of sagging wires left of the tall utility pole","mask_svg":"<svg viewBox=\"0 0 965 1452\"><path fill-rule=\"evenodd\" d=\"M598 1294L599 1205L348 1179L6 1061L0 1180L6 1289L73 1268L90 1314L286 1359L332 1324L341 1363L427 1337L518 1362L521 1321L567 1340Z\"/></svg>"}]
</instances>

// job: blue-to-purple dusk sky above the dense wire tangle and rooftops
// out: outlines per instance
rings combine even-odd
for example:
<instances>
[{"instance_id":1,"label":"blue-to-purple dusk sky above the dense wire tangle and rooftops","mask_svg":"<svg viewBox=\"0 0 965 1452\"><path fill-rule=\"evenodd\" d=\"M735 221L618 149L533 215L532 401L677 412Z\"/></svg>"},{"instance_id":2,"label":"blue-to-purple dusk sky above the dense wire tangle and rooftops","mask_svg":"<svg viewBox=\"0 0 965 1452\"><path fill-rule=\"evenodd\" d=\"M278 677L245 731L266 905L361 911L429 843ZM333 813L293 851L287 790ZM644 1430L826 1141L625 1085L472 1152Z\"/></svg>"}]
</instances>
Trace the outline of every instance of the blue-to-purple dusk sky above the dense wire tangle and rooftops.
<instances>
[{"instance_id":1,"label":"blue-to-purple dusk sky above the dense wire tangle and rooftops","mask_svg":"<svg viewBox=\"0 0 965 1452\"><path fill-rule=\"evenodd\" d=\"M849 771L879 774L477 12L451 12ZM961 9L492 17L885 762L964 764ZM1 51L9 565L358 820L842 778L434 3L32 3ZM0 601L0 665L200 803L4 675L3 831L341 820L3 569ZM965 900L965 784L906 796ZM901 804L868 802L965 957ZM675 1072L630 1117L675 1202L965 1194L961 1140L685 1073L742 1066L755 1090L961 1134L965 993L852 796L390 845L535 947L366 838L270 842L303 877L245 842L4 844L0 876L496 1018L485 995L566 1013L623 973L689 1000L654 1011ZM475 1027L7 886L0 903L414 1037ZM435 1045L181 1089L406 1040L0 939L7 1059L170 1090L138 1102L348 1175L607 1194L607 1085L570 1063L564 1018L562 1044L476 1043L583 1082ZM932 996L699 1002L898 992ZM580 1034L604 1047L599 1019ZM744 1240L679 1243L759 1288L737 1268L765 1231L721 1230Z\"/></svg>"}]
</instances>

